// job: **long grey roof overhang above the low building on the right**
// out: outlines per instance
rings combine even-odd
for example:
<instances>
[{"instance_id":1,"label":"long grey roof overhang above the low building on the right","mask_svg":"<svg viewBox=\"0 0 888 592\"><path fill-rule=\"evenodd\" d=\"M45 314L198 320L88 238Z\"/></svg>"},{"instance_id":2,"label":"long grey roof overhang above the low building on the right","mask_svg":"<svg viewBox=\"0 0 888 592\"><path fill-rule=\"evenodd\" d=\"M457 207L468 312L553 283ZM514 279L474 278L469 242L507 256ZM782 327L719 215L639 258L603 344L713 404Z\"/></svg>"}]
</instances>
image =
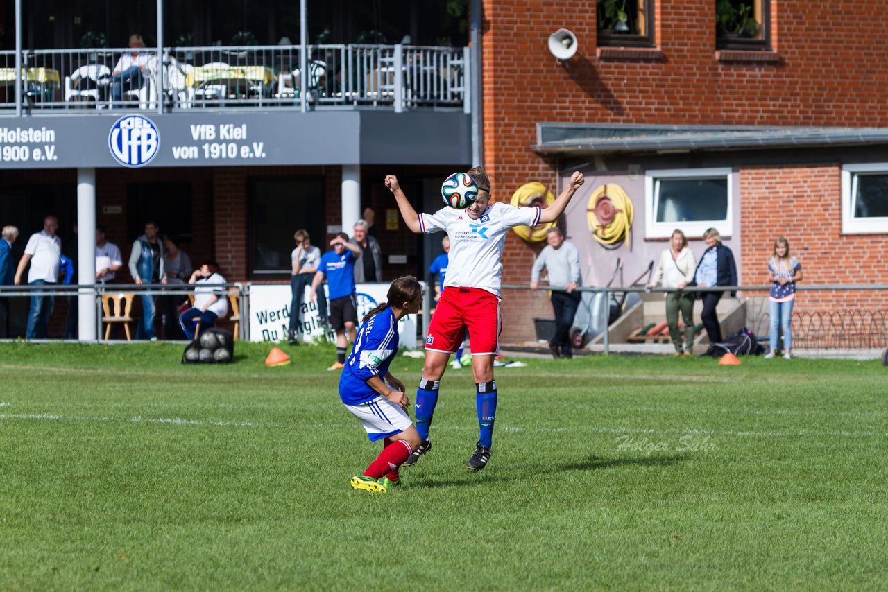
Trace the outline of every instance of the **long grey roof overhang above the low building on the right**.
<instances>
[{"instance_id":1,"label":"long grey roof overhang above the low building on the right","mask_svg":"<svg viewBox=\"0 0 888 592\"><path fill-rule=\"evenodd\" d=\"M888 128L537 123L536 154L585 156L888 144Z\"/></svg>"}]
</instances>

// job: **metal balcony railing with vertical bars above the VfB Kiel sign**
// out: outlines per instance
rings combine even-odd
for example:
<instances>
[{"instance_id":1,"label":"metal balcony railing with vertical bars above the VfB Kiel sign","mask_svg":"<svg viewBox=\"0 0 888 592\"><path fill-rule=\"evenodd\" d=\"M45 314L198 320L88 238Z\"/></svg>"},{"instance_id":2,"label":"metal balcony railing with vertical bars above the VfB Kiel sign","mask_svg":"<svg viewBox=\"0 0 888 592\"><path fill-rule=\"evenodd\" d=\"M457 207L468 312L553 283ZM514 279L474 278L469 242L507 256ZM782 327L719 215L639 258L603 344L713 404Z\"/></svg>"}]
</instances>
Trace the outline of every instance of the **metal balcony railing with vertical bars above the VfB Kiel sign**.
<instances>
[{"instance_id":1,"label":"metal balcony railing with vertical bars above the VfB Kiel sign","mask_svg":"<svg viewBox=\"0 0 888 592\"><path fill-rule=\"evenodd\" d=\"M467 48L298 45L0 52L0 114L74 109L381 107L469 111ZM116 72L123 70L122 72ZM161 105L163 104L163 106Z\"/></svg>"}]
</instances>

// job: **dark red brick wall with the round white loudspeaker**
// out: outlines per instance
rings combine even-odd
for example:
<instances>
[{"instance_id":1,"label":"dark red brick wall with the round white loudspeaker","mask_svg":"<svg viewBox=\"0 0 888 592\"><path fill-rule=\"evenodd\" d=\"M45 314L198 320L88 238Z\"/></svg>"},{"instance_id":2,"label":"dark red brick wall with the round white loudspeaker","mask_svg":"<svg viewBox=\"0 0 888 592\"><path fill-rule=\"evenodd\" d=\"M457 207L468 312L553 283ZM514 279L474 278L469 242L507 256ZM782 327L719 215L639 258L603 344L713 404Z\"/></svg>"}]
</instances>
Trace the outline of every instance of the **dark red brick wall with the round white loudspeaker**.
<instances>
[{"instance_id":1,"label":"dark red brick wall with the round white loudspeaker","mask_svg":"<svg viewBox=\"0 0 888 592\"><path fill-rule=\"evenodd\" d=\"M888 12L849 20L847 15L859 8L852 0L772 2L776 63L717 59L711 2L654 3L655 39L662 53L652 59L639 59L638 51L623 52L623 57L620 51L607 51L607 58L599 57L591 2L483 4L484 164L498 200L508 200L528 181L554 182L553 163L529 148L537 122L888 125L883 100L888 59L871 51L883 42ZM579 42L575 58L564 65L546 46L558 28L569 28ZM838 175L830 182L835 197ZM832 203L837 209L837 198ZM809 248L837 238L837 233L813 237ZM872 237L839 244L852 247L868 240ZM748 244L746 237L743 242ZM879 244L876 250L884 251L884 241ZM534 250L511 236L505 253L505 282L526 282ZM503 342L526 339L533 330L527 315L532 301L509 292L503 296Z\"/></svg>"}]
</instances>

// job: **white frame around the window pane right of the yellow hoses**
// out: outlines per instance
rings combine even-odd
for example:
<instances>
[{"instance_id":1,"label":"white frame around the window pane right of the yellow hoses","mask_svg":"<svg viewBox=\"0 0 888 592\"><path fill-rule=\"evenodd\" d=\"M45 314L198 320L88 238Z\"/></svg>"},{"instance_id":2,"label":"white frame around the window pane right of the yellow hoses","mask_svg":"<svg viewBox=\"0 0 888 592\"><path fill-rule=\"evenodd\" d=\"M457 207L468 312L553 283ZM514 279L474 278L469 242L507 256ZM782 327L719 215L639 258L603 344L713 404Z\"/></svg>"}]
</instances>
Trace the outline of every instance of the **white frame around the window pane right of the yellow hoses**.
<instances>
[{"instance_id":1,"label":"white frame around the window pane right of the yellow hoses","mask_svg":"<svg viewBox=\"0 0 888 592\"><path fill-rule=\"evenodd\" d=\"M722 236L733 233L733 170L720 169L668 169L645 171L645 238L668 239L679 228L688 237L702 236L710 228L718 230ZM659 205L659 184L661 178L717 178L727 179L727 215L724 220L704 220L702 222L657 222Z\"/></svg>"}]
</instances>

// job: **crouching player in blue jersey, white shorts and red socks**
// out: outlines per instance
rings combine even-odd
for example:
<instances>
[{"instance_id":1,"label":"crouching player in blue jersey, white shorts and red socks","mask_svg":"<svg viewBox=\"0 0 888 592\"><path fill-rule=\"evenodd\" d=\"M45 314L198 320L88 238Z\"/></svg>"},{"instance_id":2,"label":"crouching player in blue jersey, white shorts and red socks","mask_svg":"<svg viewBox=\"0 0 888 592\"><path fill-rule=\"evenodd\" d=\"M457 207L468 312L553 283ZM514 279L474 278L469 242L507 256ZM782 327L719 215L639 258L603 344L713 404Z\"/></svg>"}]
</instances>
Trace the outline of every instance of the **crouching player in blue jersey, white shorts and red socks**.
<instances>
[{"instance_id":1,"label":"crouching player in blue jersey, white shorts and red socks","mask_svg":"<svg viewBox=\"0 0 888 592\"><path fill-rule=\"evenodd\" d=\"M389 365L398 352L398 320L416 314L423 288L416 278L392 281L388 302L379 304L361 321L352 354L339 379L339 398L367 430L371 442L383 440L383 452L363 475L352 478L352 487L385 493L398 483L398 468L419 446L419 432L405 409L410 401L404 383L392 376Z\"/></svg>"}]
</instances>

